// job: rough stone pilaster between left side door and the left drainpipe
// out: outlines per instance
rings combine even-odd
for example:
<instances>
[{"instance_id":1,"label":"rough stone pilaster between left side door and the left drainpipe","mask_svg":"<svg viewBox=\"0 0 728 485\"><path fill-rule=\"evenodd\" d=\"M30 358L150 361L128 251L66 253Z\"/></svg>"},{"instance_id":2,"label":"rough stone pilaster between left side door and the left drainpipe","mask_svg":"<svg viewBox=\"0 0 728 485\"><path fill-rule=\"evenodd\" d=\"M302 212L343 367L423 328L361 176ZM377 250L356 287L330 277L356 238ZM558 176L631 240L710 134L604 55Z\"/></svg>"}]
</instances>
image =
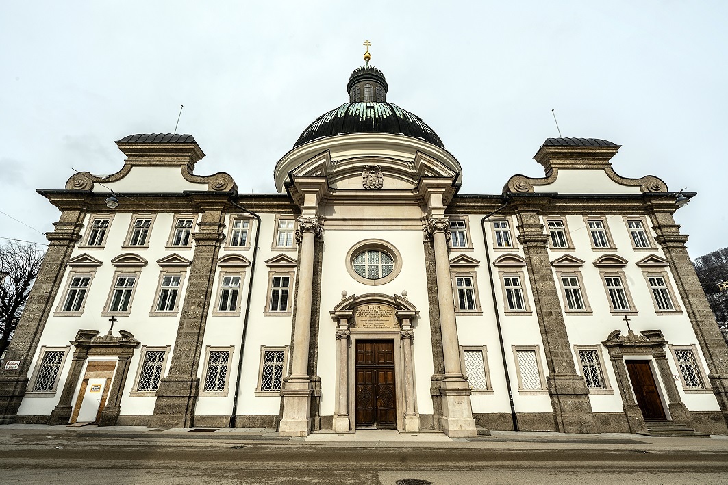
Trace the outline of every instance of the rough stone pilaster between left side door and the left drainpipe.
<instances>
[{"instance_id":1,"label":"rough stone pilaster between left side door and the left drainpipe","mask_svg":"<svg viewBox=\"0 0 728 485\"><path fill-rule=\"evenodd\" d=\"M210 303L213 302L215 262L223 229L224 205L221 201L199 201L202 217L194 239L194 256L189 270L187 292L180 312L177 337L167 377L159 381L151 426L189 428L193 425L194 406L199 395L199 368L202 339ZM237 385L237 384L236 384Z\"/></svg>"}]
</instances>

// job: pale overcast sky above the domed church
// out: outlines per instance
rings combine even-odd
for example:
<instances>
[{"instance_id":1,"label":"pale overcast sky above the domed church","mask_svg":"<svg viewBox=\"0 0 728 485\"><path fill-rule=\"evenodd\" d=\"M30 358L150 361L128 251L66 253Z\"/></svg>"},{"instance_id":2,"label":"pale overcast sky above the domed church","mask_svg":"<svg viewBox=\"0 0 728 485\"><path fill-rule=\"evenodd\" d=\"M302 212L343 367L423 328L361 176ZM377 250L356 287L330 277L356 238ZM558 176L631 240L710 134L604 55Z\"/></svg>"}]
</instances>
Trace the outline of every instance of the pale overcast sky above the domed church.
<instances>
[{"instance_id":1,"label":"pale overcast sky above the domed church","mask_svg":"<svg viewBox=\"0 0 728 485\"><path fill-rule=\"evenodd\" d=\"M119 171L114 140L174 132L180 105L197 174L274 193L368 39L387 100L462 165L460 193L542 177L553 109L564 137L622 145L619 175L698 193L676 213L698 257L728 246L727 22L727 1L699 0L0 0L0 236L47 242L59 212L36 188Z\"/></svg>"}]
</instances>

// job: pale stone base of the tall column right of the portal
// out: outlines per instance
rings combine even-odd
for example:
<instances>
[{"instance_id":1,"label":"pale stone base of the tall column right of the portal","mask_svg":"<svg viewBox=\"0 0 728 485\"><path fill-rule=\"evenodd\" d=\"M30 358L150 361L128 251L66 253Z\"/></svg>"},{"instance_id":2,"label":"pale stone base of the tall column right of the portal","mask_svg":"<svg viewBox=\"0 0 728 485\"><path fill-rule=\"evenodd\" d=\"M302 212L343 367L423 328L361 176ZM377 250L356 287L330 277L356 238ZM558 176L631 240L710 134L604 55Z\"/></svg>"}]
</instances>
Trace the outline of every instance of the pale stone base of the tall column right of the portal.
<instances>
[{"instance_id":1,"label":"pale stone base of the tall column right of the portal","mask_svg":"<svg viewBox=\"0 0 728 485\"><path fill-rule=\"evenodd\" d=\"M478 436L470 405L470 385L466 380L443 380L440 388L440 402L443 415L440 428L451 438L472 438Z\"/></svg>"}]
</instances>

